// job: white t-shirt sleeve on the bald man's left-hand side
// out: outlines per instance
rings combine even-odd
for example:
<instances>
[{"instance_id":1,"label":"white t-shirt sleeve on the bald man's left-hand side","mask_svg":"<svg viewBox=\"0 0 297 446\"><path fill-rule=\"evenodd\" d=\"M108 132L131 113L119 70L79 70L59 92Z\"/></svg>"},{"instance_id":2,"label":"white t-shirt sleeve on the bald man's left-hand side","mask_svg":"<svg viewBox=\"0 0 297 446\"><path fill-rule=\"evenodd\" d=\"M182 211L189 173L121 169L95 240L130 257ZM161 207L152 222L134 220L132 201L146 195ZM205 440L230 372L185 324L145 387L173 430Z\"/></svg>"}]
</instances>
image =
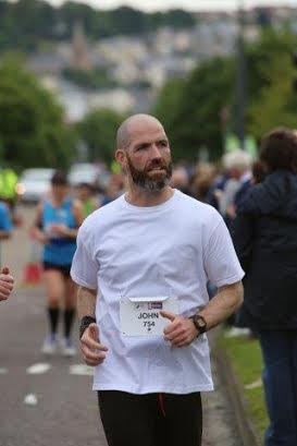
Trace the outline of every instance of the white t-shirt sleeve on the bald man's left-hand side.
<instances>
[{"instance_id":1,"label":"white t-shirt sleeve on the bald man's left-hand side","mask_svg":"<svg viewBox=\"0 0 297 446\"><path fill-rule=\"evenodd\" d=\"M82 227L77 234L77 248L72 262L71 277L75 284L96 290L98 288L98 270L99 264L94 258L86 229Z\"/></svg>"}]
</instances>

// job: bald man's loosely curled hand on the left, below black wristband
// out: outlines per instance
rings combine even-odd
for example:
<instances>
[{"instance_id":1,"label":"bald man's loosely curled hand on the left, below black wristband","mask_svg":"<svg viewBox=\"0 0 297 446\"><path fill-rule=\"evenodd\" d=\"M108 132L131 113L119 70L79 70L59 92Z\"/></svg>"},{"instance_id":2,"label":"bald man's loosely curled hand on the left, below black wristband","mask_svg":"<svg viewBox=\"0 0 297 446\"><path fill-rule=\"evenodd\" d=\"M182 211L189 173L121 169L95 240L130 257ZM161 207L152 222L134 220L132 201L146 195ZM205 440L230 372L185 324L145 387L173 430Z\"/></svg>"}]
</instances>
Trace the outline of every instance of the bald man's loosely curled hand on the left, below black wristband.
<instances>
[{"instance_id":1,"label":"bald man's loosely curled hand on the left, below black wristband","mask_svg":"<svg viewBox=\"0 0 297 446\"><path fill-rule=\"evenodd\" d=\"M89 324L81 338L81 348L88 365L101 364L107 358L108 348L100 343L99 328L97 324Z\"/></svg>"}]
</instances>

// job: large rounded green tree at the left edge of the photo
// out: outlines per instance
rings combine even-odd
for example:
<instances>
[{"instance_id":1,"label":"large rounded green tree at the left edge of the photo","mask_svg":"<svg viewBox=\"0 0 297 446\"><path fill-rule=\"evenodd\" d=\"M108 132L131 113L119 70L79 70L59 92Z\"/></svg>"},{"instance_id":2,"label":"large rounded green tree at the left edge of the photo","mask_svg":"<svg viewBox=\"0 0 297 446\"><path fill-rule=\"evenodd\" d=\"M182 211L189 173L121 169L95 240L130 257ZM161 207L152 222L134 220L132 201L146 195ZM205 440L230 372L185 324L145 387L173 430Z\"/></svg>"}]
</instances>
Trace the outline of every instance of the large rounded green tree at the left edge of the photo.
<instances>
[{"instance_id":1,"label":"large rounded green tree at the left edge of the photo","mask_svg":"<svg viewBox=\"0 0 297 446\"><path fill-rule=\"evenodd\" d=\"M65 167L74 135L63 110L18 60L0 65L0 142L4 161L22 168Z\"/></svg>"}]
</instances>

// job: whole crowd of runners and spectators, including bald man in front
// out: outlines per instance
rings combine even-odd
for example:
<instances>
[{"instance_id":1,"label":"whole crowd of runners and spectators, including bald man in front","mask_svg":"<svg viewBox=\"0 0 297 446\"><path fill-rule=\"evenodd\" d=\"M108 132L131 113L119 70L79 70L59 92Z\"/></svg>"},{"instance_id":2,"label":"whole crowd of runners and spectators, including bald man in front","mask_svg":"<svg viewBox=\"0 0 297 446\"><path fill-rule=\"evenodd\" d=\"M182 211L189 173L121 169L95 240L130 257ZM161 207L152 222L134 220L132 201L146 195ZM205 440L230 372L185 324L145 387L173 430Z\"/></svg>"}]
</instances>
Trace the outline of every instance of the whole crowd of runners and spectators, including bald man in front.
<instances>
[{"instance_id":1,"label":"whole crowd of runners and spectators, including bald man in front","mask_svg":"<svg viewBox=\"0 0 297 446\"><path fill-rule=\"evenodd\" d=\"M57 171L38 205L30 230L44 245L49 321L41 351L75 354L77 288L108 444L197 446L200 393L213 388L205 333L226 321L262 349L265 446L297 445L296 132L265 135L257 160L237 149L220 167L173 168L162 124L136 114L117 131L115 159L122 173L106 191L71 191ZM0 300L12 288L2 269Z\"/></svg>"}]
</instances>

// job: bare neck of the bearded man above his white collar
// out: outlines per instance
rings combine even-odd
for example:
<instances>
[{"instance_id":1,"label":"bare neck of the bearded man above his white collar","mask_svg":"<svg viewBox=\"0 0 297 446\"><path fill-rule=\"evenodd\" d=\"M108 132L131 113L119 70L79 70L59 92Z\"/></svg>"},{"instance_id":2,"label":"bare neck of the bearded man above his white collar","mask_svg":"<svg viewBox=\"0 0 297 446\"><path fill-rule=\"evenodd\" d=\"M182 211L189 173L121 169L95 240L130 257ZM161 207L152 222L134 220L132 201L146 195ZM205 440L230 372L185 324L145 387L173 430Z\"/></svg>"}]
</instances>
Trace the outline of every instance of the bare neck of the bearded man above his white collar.
<instances>
[{"instance_id":1,"label":"bare neck of the bearded man above his white collar","mask_svg":"<svg viewBox=\"0 0 297 446\"><path fill-rule=\"evenodd\" d=\"M172 197L174 190L169 185L161 191L150 192L131 185L125 195L126 201L134 206L158 206Z\"/></svg>"}]
</instances>

